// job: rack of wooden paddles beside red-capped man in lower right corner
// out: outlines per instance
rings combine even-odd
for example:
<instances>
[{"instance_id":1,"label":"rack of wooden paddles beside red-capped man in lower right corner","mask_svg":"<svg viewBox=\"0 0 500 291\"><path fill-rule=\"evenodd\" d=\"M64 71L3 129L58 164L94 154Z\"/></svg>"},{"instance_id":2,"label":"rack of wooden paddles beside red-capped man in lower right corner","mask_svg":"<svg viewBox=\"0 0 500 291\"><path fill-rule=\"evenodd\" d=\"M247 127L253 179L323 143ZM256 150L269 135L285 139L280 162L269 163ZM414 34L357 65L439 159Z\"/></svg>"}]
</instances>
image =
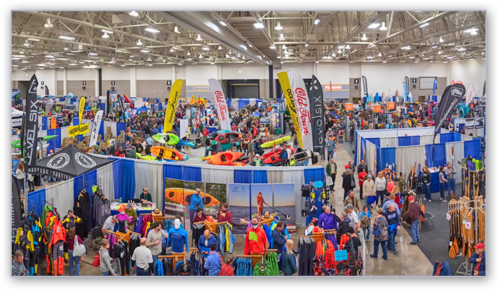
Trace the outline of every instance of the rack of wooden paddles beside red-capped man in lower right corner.
<instances>
[{"instance_id":1,"label":"rack of wooden paddles beside red-capped man in lower right corner","mask_svg":"<svg viewBox=\"0 0 500 291\"><path fill-rule=\"evenodd\" d=\"M474 245L486 245L485 226L486 211L483 196L462 196L459 200L450 200L447 219L450 220L449 256L463 256L462 263L455 275L470 276L470 256L474 253Z\"/></svg>"}]
</instances>

